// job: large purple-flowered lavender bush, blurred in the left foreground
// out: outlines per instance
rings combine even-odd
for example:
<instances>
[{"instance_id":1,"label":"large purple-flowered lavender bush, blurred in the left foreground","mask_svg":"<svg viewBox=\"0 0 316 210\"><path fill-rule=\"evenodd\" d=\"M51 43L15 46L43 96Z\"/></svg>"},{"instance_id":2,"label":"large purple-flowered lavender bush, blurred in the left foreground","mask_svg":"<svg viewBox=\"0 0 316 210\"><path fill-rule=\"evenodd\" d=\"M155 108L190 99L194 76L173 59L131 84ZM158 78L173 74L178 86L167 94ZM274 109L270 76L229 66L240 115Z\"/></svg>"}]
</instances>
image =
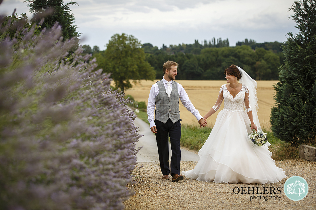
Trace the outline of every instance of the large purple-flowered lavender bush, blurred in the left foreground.
<instances>
[{"instance_id":1,"label":"large purple-flowered lavender bush, blurred in the left foreground","mask_svg":"<svg viewBox=\"0 0 316 210\"><path fill-rule=\"evenodd\" d=\"M128 100L57 24L3 20L0 208L123 209L140 137Z\"/></svg>"}]
</instances>

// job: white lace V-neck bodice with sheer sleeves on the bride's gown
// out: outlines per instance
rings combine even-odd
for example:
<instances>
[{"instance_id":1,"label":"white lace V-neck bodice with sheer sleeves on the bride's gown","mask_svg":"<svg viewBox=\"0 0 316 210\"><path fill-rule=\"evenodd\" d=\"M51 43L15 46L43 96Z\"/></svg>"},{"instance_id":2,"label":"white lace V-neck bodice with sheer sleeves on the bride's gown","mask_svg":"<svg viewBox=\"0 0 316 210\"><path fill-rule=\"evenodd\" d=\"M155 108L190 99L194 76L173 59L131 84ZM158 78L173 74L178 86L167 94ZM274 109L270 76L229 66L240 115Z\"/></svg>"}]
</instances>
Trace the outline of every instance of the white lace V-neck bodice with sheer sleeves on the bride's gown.
<instances>
[{"instance_id":1,"label":"white lace V-neck bodice with sheer sleeves on the bride's gown","mask_svg":"<svg viewBox=\"0 0 316 210\"><path fill-rule=\"evenodd\" d=\"M219 90L218 98L215 105L212 107L215 111L217 111L224 99L224 109L228 111L251 111L250 103L249 103L249 90L247 85L242 85L239 93L235 96L235 98L230 94L227 90L226 84L222 85ZM245 109L244 109L245 106Z\"/></svg>"}]
</instances>

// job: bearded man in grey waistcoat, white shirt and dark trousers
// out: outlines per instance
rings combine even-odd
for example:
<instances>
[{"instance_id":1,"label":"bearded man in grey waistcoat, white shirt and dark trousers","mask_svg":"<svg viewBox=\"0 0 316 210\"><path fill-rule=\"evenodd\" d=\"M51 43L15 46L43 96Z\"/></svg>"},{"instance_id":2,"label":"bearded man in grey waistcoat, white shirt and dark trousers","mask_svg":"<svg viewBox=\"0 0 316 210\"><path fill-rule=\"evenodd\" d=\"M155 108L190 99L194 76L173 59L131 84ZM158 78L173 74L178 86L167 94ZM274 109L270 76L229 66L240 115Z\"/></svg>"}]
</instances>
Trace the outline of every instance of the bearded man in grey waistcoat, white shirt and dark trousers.
<instances>
[{"instance_id":1,"label":"bearded man in grey waistcoat, white shirt and dark trousers","mask_svg":"<svg viewBox=\"0 0 316 210\"><path fill-rule=\"evenodd\" d=\"M163 64L164 76L162 80L151 86L147 105L150 130L156 135L162 178L170 179L169 173L171 172L173 182L183 180L183 176L179 175L181 160L179 99L185 108L197 118L200 127L206 126L207 123L198 110L194 108L182 85L174 81L177 67L178 64L173 61L167 61ZM168 135L172 150L171 171L169 169Z\"/></svg>"}]
</instances>

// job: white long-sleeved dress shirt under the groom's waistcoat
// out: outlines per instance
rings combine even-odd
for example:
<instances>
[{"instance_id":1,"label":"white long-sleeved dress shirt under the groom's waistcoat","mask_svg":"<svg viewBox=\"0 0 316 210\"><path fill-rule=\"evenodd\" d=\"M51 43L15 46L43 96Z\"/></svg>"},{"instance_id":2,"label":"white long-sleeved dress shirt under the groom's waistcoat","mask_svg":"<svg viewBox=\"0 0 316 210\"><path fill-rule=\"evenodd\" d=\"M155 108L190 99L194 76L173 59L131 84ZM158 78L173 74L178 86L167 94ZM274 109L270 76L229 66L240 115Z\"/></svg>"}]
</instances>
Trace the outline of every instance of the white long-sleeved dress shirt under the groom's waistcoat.
<instances>
[{"instance_id":1,"label":"white long-sleeved dress shirt under the groom's waistcoat","mask_svg":"<svg viewBox=\"0 0 316 210\"><path fill-rule=\"evenodd\" d=\"M162 78L162 82L165 85L165 88L167 90L167 80L165 80L164 78ZM197 120L200 120L202 117L202 115L198 112L197 109L195 109L195 107L193 106L193 104L191 103L188 94L185 92L184 88L182 87L182 85L178 84L178 93L179 93L179 98L181 103L183 104L183 106L189 110L196 118ZM171 88L172 88L172 82L170 83ZM148 102L147 102L147 115L148 115L148 121L150 124L150 127L156 126L155 125L155 107L156 107L156 103L155 103L155 98L159 93L159 88L157 83L155 83L154 85L151 86L150 92L149 92L149 98L148 98Z\"/></svg>"}]
</instances>

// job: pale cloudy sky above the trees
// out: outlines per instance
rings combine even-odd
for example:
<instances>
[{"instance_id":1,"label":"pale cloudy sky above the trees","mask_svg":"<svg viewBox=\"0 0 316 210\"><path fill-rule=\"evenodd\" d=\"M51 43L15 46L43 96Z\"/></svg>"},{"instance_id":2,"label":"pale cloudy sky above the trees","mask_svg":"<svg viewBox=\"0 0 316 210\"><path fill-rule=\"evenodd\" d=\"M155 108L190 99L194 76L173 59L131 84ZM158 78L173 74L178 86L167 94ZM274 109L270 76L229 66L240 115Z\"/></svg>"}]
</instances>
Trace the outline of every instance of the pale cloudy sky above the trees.
<instances>
[{"instance_id":1,"label":"pale cloudy sky above the trees","mask_svg":"<svg viewBox=\"0 0 316 210\"><path fill-rule=\"evenodd\" d=\"M64 3L70 2L64 0ZM254 39L257 43L284 42L298 32L288 12L294 0L75 0L81 44L106 48L116 33L133 35L158 48L162 44L193 44L213 37L228 38L230 46ZM4 0L0 14L32 14L23 0Z\"/></svg>"}]
</instances>

